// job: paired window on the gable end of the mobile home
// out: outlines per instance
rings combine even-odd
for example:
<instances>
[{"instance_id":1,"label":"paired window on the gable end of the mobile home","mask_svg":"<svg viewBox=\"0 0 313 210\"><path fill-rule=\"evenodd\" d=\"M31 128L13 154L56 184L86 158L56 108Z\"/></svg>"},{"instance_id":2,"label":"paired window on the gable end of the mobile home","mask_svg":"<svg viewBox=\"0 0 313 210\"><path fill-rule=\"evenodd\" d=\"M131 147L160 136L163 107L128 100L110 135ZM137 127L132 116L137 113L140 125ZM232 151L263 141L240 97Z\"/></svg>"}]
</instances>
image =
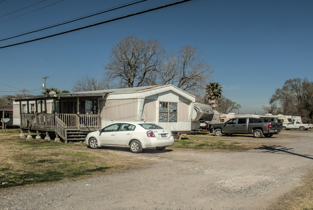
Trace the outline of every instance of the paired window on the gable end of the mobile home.
<instances>
[{"instance_id":1,"label":"paired window on the gable end of the mobile home","mask_svg":"<svg viewBox=\"0 0 313 210\"><path fill-rule=\"evenodd\" d=\"M177 122L177 103L160 102L159 122Z\"/></svg>"}]
</instances>

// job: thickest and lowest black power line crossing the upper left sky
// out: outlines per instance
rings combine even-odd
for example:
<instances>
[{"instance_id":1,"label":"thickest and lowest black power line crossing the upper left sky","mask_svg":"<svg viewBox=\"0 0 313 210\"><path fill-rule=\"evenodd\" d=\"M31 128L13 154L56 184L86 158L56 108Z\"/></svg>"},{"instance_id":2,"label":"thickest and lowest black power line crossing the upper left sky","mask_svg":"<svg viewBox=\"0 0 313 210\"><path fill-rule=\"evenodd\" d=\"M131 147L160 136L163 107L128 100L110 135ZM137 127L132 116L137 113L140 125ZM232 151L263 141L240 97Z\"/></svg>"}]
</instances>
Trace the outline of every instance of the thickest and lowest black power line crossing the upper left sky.
<instances>
[{"instance_id":1,"label":"thickest and lowest black power line crossing the upper left sky","mask_svg":"<svg viewBox=\"0 0 313 210\"><path fill-rule=\"evenodd\" d=\"M80 28L77 28L77 29L72 29L72 30L69 30L69 31L64 31L64 32L61 32L61 33L52 34L52 35L49 35L49 36L45 36L45 37L41 37L41 38L37 38L37 39L32 39L32 40L29 40L29 41L20 42L20 43L16 43L16 44L13 44L13 45L3 46L3 47L0 47L0 49L1 49L1 48L6 48L6 47L15 46L15 45L21 45L21 44L25 44L25 43L28 43L28 42L37 41L37 40L40 40L40 39L46 39L46 38L53 37L53 36L58 36L58 35L61 35L61 34L66 34L66 33L73 32L73 31L78 31L78 30L80 30L80 29L86 29L86 28L89 28L89 27L92 27L92 26L96 26L96 25L100 25L100 24L109 23L109 22L112 22L112 21L115 21L115 20L120 20L120 19L123 19L123 18L128 18L128 17L135 16L135 15L138 15L138 14L151 12L151 11L154 11L154 10L157 10L157 9L166 8L166 7L170 7L170 6L173 6L173 5L176 5L176 4L180 4L180 3L184 3L184 2L189 2L189 1L192 1L192 0L182 0L182 1L174 2L174 3L166 4L166 5L163 5L163 6L160 6L160 7L155 7L155 8L147 9L147 10L144 10L144 11L141 11L141 12L132 13L132 14L125 15L125 16L122 16L122 17L118 17L118 18L113 18L113 19L110 19L110 20L106 20L106 21L103 21L103 22L100 22L100 23L96 23L96 24L87 25L87 26L80 27Z\"/></svg>"}]
</instances>

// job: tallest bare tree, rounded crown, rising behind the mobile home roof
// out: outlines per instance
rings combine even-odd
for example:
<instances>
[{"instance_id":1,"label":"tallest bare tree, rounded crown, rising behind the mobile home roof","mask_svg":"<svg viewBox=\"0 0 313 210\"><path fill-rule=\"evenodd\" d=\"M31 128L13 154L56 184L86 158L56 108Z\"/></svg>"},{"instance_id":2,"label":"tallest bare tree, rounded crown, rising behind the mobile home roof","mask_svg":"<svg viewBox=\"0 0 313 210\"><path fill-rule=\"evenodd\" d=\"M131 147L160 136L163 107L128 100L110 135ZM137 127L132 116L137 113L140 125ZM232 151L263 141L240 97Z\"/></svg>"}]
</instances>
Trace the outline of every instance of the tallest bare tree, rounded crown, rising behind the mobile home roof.
<instances>
[{"instance_id":1,"label":"tallest bare tree, rounded crown, rising behind the mobile home roof","mask_svg":"<svg viewBox=\"0 0 313 210\"><path fill-rule=\"evenodd\" d=\"M164 56L165 49L160 40L146 41L132 35L112 47L109 62L104 68L123 87L141 87L149 84L152 72L159 71Z\"/></svg>"}]
</instances>

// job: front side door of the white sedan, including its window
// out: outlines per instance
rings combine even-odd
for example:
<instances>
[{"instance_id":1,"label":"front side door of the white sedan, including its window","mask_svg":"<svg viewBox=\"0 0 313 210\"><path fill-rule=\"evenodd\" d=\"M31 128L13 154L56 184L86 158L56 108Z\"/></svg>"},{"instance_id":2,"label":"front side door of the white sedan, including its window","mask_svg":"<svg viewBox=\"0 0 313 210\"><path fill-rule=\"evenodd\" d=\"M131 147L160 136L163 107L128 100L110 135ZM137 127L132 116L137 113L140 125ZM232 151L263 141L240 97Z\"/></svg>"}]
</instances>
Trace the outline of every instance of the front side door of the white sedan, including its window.
<instances>
[{"instance_id":1,"label":"front side door of the white sedan, including its window","mask_svg":"<svg viewBox=\"0 0 313 210\"><path fill-rule=\"evenodd\" d=\"M120 128L121 123L115 123L113 125L104 127L99 133L100 145L116 145L115 135Z\"/></svg>"}]
</instances>

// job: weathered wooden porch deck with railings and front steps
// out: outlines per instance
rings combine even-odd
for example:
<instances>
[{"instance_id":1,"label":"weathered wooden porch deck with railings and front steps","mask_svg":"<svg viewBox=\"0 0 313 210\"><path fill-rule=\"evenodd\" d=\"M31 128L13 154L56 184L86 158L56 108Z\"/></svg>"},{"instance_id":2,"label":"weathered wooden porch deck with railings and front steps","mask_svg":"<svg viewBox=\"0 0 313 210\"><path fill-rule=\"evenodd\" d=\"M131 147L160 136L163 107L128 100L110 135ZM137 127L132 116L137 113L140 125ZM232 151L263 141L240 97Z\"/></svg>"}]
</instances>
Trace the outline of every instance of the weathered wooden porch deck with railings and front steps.
<instances>
[{"instance_id":1,"label":"weathered wooden porch deck with railings and front steps","mask_svg":"<svg viewBox=\"0 0 313 210\"><path fill-rule=\"evenodd\" d=\"M84 141L87 133L101 128L100 114L20 113L20 117L21 132L36 131L38 136L39 131L45 131L48 137L48 132L55 132L65 143Z\"/></svg>"}]
</instances>

